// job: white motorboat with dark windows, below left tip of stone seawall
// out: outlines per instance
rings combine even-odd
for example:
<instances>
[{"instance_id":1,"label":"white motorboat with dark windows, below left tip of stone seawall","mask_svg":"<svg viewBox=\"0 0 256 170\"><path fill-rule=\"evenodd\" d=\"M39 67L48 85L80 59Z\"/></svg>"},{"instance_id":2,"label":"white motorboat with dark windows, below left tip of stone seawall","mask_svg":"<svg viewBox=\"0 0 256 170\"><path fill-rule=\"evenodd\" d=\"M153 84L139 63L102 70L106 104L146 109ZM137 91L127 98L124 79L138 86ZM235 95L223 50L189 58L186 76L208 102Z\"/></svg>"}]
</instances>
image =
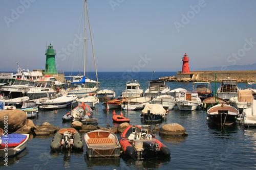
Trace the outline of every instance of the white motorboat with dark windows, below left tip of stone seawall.
<instances>
[{"instance_id":1,"label":"white motorboat with dark windows, below left tip of stone seawall","mask_svg":"<svg viewBox=\"0 0 256 170\"><path fill-rule=\"evenodd\" d=\"M155 98L155 96L167 94L169 91L170 88L166 85L164 80L151 80L148 82L148 88L146 89L144 96Z\"/></svg>"}]
</instances>

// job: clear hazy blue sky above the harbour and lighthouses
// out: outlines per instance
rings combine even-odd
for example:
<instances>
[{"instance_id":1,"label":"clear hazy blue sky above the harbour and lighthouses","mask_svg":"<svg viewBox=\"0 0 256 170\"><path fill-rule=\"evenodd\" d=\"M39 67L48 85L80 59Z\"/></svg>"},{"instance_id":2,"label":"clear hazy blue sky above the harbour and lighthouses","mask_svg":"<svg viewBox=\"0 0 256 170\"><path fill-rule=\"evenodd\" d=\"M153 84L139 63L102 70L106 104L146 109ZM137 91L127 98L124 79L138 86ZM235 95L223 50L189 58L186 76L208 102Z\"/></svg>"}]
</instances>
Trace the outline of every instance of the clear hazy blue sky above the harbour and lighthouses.
<instances>
[{"instance_id":1,"label":"clear hazy blue sky above the harbour and lighthouses","mask_svg":"<svg viewBox=\"0 0 256 170\"><path fill-rule=\"evenodd\" d=\"M97 71L181 71L256 63L254 0L88 0ZM83 71L83 0L0 1L0 71ZM82 20L82 22L81 22ZM80 33L79 33L80 28ZM80 36L78 36L80 35ZM87 23L86 70L94 71Z\"/></svg>"}]
</instances>

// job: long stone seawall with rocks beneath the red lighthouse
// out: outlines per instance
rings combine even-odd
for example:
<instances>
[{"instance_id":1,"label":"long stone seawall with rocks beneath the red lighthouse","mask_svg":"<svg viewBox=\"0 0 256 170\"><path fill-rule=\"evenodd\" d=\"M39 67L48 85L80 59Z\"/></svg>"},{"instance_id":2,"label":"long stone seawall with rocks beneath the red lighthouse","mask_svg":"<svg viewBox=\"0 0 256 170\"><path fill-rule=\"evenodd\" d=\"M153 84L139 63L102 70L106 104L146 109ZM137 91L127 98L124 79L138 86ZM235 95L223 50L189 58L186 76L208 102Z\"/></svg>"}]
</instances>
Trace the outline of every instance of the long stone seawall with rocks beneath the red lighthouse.
<instances>
[{"instance_id":1,"label":"long stone seawall with rocks beneath the red lighthouse","mask_svg":"<svg viewBox=\"0 0 256 170\"><path fill-rule=\"evenodd\" d=\"M256 70L190 71L190 74L177 73L176 77L163 77L159 79L169 82L210 82L215 81L215 74L217 81L230 77L231 79L237 79L238 82L256 82Z\"/></svg>"}]
</instances>

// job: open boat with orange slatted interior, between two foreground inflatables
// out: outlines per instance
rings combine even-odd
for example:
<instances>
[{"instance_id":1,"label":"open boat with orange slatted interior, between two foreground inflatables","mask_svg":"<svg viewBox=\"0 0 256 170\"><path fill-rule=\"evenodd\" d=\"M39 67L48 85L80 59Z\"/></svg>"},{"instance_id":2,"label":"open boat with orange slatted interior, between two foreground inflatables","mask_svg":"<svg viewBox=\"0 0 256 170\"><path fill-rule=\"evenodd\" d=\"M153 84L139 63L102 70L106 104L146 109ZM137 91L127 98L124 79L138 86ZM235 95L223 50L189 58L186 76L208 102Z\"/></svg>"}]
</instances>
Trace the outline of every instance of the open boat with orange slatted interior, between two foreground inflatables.
<instances>
[{"instance_id":1,"label":"open boat with orange slatted interior, between two foreground inflatables","mask_svg":"<svg viewBox=\"0 0 256 170\"><path fill-rule=\"evenodd\" d=\"M84 134L87 154L91 157L118 157L121 146L117 136L109 131L95 130Z\"/></svg>"}]
</instances>

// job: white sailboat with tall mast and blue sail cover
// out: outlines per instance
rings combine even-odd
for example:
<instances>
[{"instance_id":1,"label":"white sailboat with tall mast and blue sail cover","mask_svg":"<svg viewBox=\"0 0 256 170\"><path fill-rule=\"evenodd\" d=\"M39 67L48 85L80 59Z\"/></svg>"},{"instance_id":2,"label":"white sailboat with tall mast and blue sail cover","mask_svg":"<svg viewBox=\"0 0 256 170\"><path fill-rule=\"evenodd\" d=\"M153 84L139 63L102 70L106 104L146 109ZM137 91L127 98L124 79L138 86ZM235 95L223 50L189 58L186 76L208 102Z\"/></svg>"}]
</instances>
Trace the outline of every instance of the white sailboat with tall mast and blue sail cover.
<instances>
[{"instance_id":1,"label":"white sailboat with tall mast and blue sail cover","mask_svg":"<svg viewBox=\"0 0 256 170\"><path fill-rule=\"evenodd\" d=\"M91 35L91 43L92 43L92 50L93 50L93 40L92 40L92 34L91 34L91 27L90 27L90 20L89 20L89 13L87 8L87 1L84 0L84 46L83 46L83 78L81 81L78 82L72 82L71 84L79 84L82 83L83 86L78 86L75 89L71 89L68 94L75 94L78 96L78 98L82 98L84 96L89 96L90 93L97 93L99 91L99 85L98 85L98 75L97 75L97 68L96 68L96 62L95 62L95 56L94 56L94 50L93 50L93 58L94 58L94 66L95 66L95 72L96 72L96 78L97 78L97 84L95 87L86 87L86 13L88 16L88 22L89 22L89 29L90 29L90 35Z\"/></svg>"}]
</instances>

